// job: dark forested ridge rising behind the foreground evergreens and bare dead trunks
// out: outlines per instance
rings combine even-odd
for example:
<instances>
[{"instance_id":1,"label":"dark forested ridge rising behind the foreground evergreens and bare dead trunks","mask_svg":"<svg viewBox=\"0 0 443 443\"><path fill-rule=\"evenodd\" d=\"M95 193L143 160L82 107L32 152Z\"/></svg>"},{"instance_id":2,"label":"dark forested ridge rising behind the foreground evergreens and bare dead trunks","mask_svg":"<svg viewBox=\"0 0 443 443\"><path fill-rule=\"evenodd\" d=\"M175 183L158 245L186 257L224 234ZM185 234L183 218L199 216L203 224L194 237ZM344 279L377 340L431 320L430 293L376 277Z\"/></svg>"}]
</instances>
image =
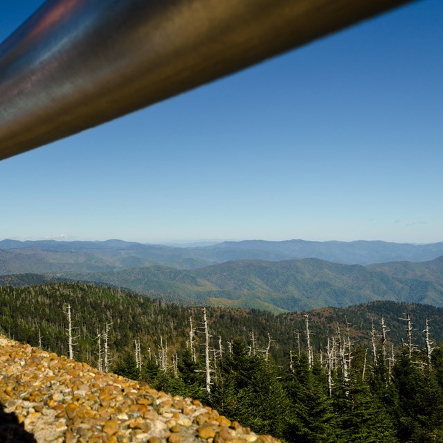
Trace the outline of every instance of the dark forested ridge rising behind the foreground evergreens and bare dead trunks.
<instances>
[{"instance_id":1,"label":"dark forested ridge rising behind the foreground evergreens and bare dead trunks","mask_svg":"<svg viewBox=\"0 0 443 443\"><path fill-rule=\"evenodd\" d=\"M120 289L95 284L51 283L32 287L0 287L0 328L10 338L41 346L58 354L68 354L66 344L67 306L71 316L77 345L75 358L97 365L97 337L109 325L109 352L114 361L120 354L132 350L134 340L140 340L143 355L156 354L168 347L171 356L186 348L193 327L202 325L199 307L183 307L160 300L128 293ZM257 348L264 349L271 336L270 354L279 364L289 361L289 352L306 347L305 313L273 315L256 309L208 307L209 332L218 346L240 338L250 344L251 334ZM327 336L334 336L338 326L348 325L356 346L371 347L372 323L376 334L385 319L390 343L399 350L405 339L405 313L409 313L417 345L424 347L426 319L430 321L432 336L443 342L443 309L430 305L400 302L371 302L349 308L324 308L309 312L311 345L316 352L325 351ZM196 334L197 353L201 350L202 334Z\"/></svg>"}]
</instances>

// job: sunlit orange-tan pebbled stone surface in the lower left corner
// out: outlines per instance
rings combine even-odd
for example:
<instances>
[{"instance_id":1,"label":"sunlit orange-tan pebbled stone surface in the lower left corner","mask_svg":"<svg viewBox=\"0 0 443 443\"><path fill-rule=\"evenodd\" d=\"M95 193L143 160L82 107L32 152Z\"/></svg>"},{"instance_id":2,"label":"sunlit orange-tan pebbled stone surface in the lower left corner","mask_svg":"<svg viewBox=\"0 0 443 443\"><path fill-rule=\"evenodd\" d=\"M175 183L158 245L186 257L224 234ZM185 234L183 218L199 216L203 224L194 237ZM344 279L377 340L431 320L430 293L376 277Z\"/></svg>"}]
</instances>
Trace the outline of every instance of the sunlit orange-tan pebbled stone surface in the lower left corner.
<instances>
[{"instance_id":1,"label":"sunlit orange-tan pebbled stone surface in the lower left corner","mask_svg":"<svg viewBox=\"0 0 443 443\"><path fill-rule=\"evenodd\" d=\"M278 443L199 401L0 336L0 441Z\"/></svg>"}]
</instances>

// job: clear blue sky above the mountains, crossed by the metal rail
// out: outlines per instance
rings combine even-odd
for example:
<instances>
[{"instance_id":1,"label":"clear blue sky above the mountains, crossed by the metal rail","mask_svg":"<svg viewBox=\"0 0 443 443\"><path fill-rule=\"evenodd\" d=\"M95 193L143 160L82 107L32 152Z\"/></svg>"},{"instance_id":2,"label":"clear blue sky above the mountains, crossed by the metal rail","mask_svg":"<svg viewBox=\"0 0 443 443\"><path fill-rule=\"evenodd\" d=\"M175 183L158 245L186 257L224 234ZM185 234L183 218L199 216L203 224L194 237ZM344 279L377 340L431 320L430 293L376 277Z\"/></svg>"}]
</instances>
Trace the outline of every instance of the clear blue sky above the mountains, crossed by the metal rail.
<instances>
[{"instance_id":1,"label":"clear blue sky above the mountains, crossed by the metal rail","mask_svg":"<svg viewBox=\"0 0 443 443\"><path fill-rule=\"evenodd\" d=\"M0 162L0 239L439 242L442 201L441 0Z\"/></svg>"}]
</instances>

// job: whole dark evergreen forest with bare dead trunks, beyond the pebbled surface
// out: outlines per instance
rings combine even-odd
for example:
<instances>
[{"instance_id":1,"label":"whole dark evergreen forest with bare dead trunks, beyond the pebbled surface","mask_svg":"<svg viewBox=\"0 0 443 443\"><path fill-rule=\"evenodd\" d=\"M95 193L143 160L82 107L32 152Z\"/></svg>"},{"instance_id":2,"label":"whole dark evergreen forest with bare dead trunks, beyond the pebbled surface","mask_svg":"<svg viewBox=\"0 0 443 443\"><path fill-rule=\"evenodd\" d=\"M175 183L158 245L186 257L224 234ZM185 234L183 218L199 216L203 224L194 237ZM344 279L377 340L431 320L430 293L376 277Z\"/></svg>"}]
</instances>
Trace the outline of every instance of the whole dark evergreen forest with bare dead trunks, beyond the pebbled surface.
<instances>
[{"instance_id":1,"label":"whole dark evergreen forest with bare dead trunks, beyond the pebbled surface","mask_svg":"<svg viewBox=\"0 0 443 443\"><path fill-rule=\"evenodd\" d=\"M286 442L443 442L442 319L395 302L274 316L83 283L0 287L3 334Z\"/></svg>"}]
</instances>

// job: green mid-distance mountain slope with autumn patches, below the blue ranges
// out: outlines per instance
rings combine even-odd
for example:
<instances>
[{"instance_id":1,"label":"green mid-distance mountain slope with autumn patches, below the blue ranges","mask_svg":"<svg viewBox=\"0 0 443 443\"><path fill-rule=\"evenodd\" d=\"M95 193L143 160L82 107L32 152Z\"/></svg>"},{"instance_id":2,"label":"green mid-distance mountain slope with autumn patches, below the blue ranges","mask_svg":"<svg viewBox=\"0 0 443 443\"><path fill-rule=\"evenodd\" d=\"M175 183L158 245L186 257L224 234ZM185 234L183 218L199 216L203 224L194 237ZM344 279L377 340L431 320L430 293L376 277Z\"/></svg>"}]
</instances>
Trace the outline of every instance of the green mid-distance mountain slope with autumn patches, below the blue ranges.
<instances>
[{"instance_id":1,"label":"green mid-distance mountain slope with autumn patches, below the blue ranges","mask_svg":"<svg viewBox=\"0 0 443 443\"><path fill-rule=\"evenodd\" d=\"M185 304L249 307L274 313L345 307L372 300L443 306L443 260L408 264L407 268L408 272L401 264L389 264L388 271L383 272L382 267L318 259L242 260L188 271L150 266L57 276L102 282Z\"/></svg>"}]
</instances>

